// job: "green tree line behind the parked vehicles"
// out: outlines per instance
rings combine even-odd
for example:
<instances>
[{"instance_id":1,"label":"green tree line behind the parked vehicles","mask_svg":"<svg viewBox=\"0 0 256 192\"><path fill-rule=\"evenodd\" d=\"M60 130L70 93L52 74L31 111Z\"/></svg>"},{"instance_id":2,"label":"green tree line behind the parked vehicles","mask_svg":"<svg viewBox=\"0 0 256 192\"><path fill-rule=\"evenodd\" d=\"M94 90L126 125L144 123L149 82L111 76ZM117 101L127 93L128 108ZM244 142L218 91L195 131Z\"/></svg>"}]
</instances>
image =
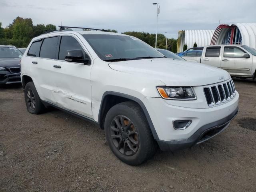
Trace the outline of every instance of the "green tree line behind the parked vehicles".
<instances>
[{"instance_id":1,"label":"green tree line behind the parked vehicles","mask_svg":"<svg viewBox=\"0 0 256 192\"><path fill-rule=\"evenodd\" d=\"M57 30L57 28L53 24L34 25L31 18L22 17L14 19L6 28L3 28L0 22L0 45L14 45L18 48L26 48L32 38L44 34L47 30ZM108 31L117 32L117 30L113 29L108 29ZM156 34L136 31L123 32L123 34L139 38L150 46L155 47ZM166 48L166 36L164 34L157 34L157 48ZM176 53L177 40L168 38L167 49Z\"/></svg>"}]
</instances>

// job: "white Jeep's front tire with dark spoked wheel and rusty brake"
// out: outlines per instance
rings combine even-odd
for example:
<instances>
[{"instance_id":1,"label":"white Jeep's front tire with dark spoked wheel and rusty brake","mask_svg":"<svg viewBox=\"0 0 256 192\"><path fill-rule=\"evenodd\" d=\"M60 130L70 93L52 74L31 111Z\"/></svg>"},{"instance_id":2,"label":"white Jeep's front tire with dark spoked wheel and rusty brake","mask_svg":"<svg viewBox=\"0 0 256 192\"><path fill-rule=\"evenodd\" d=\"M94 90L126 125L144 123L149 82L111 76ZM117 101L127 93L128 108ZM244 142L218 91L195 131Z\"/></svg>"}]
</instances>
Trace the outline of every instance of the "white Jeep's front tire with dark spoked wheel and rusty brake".
<instances>
[{"instance_id":1,"label":"white Jeep's front tire with dark spoked wheel and rusty brake","mask_svg":"<svg viewBox=\"0 0 256 192\"><path fill-rule=\"evenodd\" d=\"M142 164L156 153L158 145L146 117L134 102L123 102L110 108L104 128L110 149L126 164Z\"/></svg>"}]
</instances>

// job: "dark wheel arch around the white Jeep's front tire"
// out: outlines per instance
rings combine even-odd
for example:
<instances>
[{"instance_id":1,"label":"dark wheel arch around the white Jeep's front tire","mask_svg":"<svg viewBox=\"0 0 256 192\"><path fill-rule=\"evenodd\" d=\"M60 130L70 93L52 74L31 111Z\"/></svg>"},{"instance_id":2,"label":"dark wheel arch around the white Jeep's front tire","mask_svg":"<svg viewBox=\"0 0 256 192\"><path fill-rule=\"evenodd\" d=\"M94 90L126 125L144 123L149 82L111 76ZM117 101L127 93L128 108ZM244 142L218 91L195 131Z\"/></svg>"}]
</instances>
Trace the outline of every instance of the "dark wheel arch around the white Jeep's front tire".
<instances>
[{"instance_id":1,"label":"dark wheel arch around the white Jeep's front tire","mask_svg":"<svg viewBox=\"0 0 256 192\"><path fill-rule=\"evenodd\" d=\"M98 115L98 123L100 125L100 128L104 129L104 120L108 110L112 106L125 101L132 101L140 106L140 108L144 112L144 115L146 117L146 120L148 122L148 125L150 127L150 130L154 139L158 140L159 139L158 135L156 133L153 122L150 118L150 115L148 114L148 110L146 109L146 106L144 105L144 103L140 99L124 93L107 91L103 94L101 104L100 104L99 115Z\"/></svg>"}]
</instances>

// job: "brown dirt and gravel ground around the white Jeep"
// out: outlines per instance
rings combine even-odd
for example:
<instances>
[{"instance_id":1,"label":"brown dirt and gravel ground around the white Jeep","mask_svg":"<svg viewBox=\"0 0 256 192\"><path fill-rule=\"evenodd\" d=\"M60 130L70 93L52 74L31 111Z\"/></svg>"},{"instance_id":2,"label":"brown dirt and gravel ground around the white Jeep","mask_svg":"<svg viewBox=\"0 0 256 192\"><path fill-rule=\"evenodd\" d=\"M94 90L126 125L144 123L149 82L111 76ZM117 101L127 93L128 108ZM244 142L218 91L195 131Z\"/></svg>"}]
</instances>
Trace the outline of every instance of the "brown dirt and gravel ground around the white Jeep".
<instances>
[{"instance_id":1,"label":"brown dirt and gravel ground around the white Jeep","mask_svg":"<svg viewBox=\"0 0 256 192\"><path fill-rule=\"evenodd\" d=\"M240 112L227 130L136 167L93 124L60 110L30 114L21 86L0 88L0 191L256 192L256 83L234 82Z\"/></svg>"}]
</instances>

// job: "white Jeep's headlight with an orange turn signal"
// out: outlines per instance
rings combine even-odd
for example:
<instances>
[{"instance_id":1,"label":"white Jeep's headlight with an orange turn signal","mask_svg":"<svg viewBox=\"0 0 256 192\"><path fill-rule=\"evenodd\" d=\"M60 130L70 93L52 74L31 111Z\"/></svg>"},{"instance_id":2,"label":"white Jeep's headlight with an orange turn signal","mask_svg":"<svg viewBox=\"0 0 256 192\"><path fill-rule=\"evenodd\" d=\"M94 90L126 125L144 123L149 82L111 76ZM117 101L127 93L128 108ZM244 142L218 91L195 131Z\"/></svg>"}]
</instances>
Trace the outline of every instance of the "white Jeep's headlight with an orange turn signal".
<instances>
[{"instance_id":1,"label":"white Jeep's headlight with an orange turn signal","mask_svg":"<svg viewBox=\"0 0 256 192\"><path fill-rule=\"evenodd\" d=\"M196 94L192 87L157 87L164 99L196 100Z\"/></svg>"}]
</instances>

